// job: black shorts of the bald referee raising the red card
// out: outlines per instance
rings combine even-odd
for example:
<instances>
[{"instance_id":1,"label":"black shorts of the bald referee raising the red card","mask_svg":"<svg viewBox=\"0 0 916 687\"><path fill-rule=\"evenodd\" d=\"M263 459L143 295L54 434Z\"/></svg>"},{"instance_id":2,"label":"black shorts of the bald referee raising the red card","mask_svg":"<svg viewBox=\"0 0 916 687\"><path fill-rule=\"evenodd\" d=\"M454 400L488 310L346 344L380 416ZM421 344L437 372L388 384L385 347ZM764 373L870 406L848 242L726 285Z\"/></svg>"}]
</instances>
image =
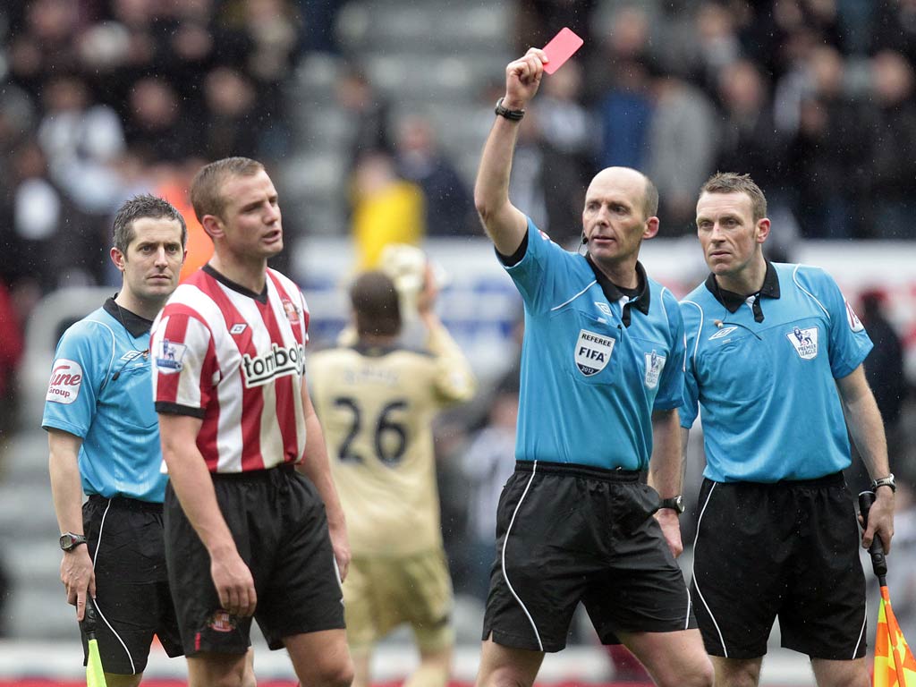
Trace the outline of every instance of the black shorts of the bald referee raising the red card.
<instances>
[{"instance_id":1,"label":"black shorts of the bald referee raising the red card","mask_svg":"<svg viewBox=\"0 0 916 687\"><path fill-rule=\"evenodd\" d=\"M690 596L636 472L519 461L499 498L483 638L559 651L581 601L604 644L696 627Z\"/></svg>"}]
</instances>

